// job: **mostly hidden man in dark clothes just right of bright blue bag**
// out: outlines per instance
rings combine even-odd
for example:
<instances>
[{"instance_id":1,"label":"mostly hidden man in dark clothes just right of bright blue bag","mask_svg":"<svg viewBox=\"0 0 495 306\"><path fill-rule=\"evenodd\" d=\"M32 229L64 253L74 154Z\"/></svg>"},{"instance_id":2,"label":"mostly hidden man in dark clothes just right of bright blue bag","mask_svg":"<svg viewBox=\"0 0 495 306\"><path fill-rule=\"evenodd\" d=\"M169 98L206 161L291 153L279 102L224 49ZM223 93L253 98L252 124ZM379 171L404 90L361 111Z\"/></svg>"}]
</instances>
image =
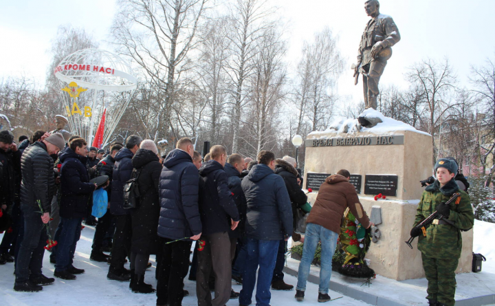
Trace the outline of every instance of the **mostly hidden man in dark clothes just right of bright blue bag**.
<instances>
[{"instance_id":1,"label":"mostly hidden man in dark clothes just right of bright blue bag","mask_svg":"<svg viewBox=\"0 0 495 306\"><path fill-rule=\"evenodd\" d=\"M109 177L109 186L107 187L107 195L109 199L108 207L110 207L111 201L111 181L113 179L113 165L115 164L114 157L120 149L122 149L122 146L119 144L114 144L110 149L110 154L107 155L107 157L104 157L96 168L98 171L98 176L108 175ZM106 262L108 260L109 256L104 254L101 248L103 246L104 236L107 234L111 226L111 219L112 215L108 209L102 217L98 218L98 224L96 225L95 235L93 238L93 245L91 246L91 256L89 256L89 259L92 261Z\"/></svg>"}]
</instances>

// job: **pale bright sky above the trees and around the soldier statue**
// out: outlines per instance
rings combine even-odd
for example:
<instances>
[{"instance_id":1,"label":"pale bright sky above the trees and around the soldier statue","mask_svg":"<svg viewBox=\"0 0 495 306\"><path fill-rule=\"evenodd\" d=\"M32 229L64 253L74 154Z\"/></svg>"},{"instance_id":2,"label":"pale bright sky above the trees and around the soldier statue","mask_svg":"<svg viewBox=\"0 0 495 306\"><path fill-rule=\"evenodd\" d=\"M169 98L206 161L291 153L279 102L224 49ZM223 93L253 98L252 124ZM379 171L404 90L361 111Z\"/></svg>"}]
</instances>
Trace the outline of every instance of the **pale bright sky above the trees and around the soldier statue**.
<instances>
[{"instance_id":1,"label":"pale bright sky above the trees and around the soldier statue","mask_svg":"<svg viewBox=\"0 0 495 306\"><path fill-rule=\"evenodd\" d=\"M305 39L325 25L339 36L338 46L347 58L346 71L339 80L338 94L362 100L362 87L353 85L351 63L369 17L362 0L272 0L287 21L289 52L294 67ZM23 0L0 1L0 77L26 74L43 84L50 63L50 40L58 25L83 27L97 40L107 39L114 0ZM401 41L393 47L393 57L382 84L405 87L404 72L423 58L448 57L467 85L470 65L482 65L495 57L494 0L381 0L382 14L393 17ZM102 44L102 47L107 47Z\"/></svg>"}]
</instances>

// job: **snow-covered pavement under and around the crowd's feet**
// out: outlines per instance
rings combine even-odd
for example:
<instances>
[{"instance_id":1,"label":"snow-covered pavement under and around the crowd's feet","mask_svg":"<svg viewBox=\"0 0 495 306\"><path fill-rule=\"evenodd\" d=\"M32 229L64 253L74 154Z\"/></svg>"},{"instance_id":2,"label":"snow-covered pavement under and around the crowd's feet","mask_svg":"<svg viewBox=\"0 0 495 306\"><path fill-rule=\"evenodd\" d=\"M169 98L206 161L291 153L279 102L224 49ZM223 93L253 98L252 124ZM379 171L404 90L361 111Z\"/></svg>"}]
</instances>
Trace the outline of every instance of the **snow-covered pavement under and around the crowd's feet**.
<instances>
[{"instance_id":1,"label":"snow-covered pavement under and around the crowd's feet","mask_svg":"<svg viewBox=\"0 0 495 306\"><path fill-rule=\"evenodd\" d=\"M0 306L56 306L56 305L98 305L98 306L144 306L156 305L155 294L135 294L129 289L129 283L120 283L118 281L107 280L108 267L107 263L98 263L89 260L91 252L91 243L94 236L94 228L86 226L81 232L81 238L76 249L74 258L74 266L86 270L85 274L77 276L76 281L63 281L60 278L55 278L53 285L43 287L42 292L23 293L14 292L14 265L7 263L0 265ZM3 234L0 234L0 239ZM50 263L50 253L45 252L43 261L43 273L48 277L53 277L54 265ZM151 283L156 288L155 280L155 263L154 256L151 256L153 267L146 272L145 281ZM129 268L129 263L126 264ZM291 285L296 285L297 279L294 276L285 276L285 282ZM184 306L197 305L196 299L196 283L188 281L186 278L184 289L190 292L182 301ZM236 292L241 290L241 285L232 283L232 288ZM289 292L281 292L272 290L272 306L287 306L296 305L294 299L295 290ZM337 292L329 292L331 298L342 296ZM297 305L325 305L318 303L318 285L313 283L307 284L307 292L305 302ZM254 300L254 294L253 294ZM364 306L369 305L359 300L354 300L344 296L338 300L332 300L332 306ZM228 306L239 305L239 300L230 300ZM253 304L254 305L254 304Z\"/></svg>"}]
</instances>

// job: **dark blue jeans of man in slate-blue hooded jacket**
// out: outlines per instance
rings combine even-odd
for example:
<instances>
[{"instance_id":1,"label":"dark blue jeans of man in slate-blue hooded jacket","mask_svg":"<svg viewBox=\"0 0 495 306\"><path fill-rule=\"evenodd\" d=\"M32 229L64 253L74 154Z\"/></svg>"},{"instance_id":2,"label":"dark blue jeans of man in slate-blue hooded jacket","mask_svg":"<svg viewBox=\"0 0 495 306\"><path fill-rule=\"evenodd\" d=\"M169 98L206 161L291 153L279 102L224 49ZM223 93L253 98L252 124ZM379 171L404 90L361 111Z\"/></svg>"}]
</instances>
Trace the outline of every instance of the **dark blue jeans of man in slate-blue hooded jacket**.
<instances>
[{"instance_id":1,"label":"dark blue jeans of man in slate-blue hooded jacket","mask_svg":"<svg viewBox=\"0 0 495 306\"><path fill-rule=\"evenodd\" d=\"M252 292L256 283L256 270L258 270L258 283L256 285L256 306L269 306L270 285L278 251L278 240L246 239L245 249L248 251L244 265L243 289L239 296L240 305L250 305Z\"/></svg>"}]
</instances>

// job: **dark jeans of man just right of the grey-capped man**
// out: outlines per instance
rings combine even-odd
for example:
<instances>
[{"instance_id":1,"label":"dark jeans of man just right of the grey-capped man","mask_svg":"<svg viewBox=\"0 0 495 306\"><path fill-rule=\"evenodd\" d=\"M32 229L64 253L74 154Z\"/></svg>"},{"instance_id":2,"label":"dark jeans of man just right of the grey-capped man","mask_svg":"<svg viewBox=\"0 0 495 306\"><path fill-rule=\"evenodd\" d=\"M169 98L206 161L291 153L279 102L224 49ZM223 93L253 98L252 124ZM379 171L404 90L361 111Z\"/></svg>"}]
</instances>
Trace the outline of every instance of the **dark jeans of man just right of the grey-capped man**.
<instances>
[{"instance_id":1,"label":"dark jeans of man just right of the grey-capped man","mask_svg":"<svg viewBox=\"0 0 495 306\"><path fill-rule=\"evenodd\" d=\"M62 272L72 267L72 258L80 238L82 218L61 217L62 228L56 250L55 271Z\"/></svg>"}]
</instances>

